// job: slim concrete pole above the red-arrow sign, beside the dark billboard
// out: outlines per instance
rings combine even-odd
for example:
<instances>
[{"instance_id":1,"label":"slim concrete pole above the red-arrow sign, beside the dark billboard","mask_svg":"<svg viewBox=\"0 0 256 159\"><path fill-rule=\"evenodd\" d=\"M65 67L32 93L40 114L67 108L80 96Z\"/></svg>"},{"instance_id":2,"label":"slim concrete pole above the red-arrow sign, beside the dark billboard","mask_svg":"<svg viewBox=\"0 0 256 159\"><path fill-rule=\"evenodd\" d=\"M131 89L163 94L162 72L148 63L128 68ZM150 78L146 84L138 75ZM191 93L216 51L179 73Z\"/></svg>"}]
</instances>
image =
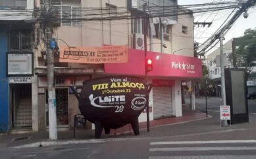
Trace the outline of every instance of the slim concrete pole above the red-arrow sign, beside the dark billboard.
<instances>
[{"instance_id":1,"label":"slim concrete pole above the red-arrow sign, beside the dark billboard","mask_svg":"<svg viewBox=\"0 0 256 159\"><path fill-rule=\"evenodd\" d=\"M224 74L224 57L223 57L223 32L220 32L220 78L221 78L221 97L223 105L226 105L226 86Z\"/></svg>"}]
</instances>

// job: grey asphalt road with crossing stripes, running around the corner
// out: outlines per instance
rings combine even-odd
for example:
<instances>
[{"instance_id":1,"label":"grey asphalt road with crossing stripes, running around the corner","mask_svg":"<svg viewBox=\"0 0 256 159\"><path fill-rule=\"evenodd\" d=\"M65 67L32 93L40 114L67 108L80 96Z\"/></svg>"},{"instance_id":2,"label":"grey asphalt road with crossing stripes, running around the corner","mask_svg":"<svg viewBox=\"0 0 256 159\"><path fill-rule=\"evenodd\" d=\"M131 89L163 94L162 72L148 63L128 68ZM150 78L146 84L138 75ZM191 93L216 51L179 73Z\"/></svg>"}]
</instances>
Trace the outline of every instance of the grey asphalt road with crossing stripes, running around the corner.
<instances>
[{"instance_id":1,"label":"grey asphalt road with crossing stripes, running around the corner","mask_svg":"<svg viewBox=\"0 0 256 159\"><path fill-rule=\"evenodd\" d=\"M0 158L256 158L256 101L248 101L249 124L229 127L218 125L220 103L218 98L207 99L212 118L154 127L149 133L142 131L140 136L119 135L48 147L1 148ZM205 98L197 98L196 107L205 111Z\"/></svg>"}]
</instances>

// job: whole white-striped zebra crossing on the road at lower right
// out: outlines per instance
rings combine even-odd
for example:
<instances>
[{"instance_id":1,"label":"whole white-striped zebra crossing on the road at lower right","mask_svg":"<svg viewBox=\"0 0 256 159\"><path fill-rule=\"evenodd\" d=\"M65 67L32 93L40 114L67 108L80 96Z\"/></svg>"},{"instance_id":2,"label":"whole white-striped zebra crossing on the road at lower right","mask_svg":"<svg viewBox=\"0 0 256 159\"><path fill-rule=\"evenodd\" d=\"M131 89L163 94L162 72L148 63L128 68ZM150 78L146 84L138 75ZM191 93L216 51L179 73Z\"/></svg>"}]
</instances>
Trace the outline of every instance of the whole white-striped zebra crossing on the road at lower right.
<instances>
[{"instance_id":1,"label":"whole white-striped zebra crossing on the road at lower right","mask_svg":"<svg viewBox=\"0 0 256 159\"><path fill-rule=\"evenodd\" d=\"M149 159L256 158L256 140L159 141L149 145Z\"/></svg>"}]
</instances>

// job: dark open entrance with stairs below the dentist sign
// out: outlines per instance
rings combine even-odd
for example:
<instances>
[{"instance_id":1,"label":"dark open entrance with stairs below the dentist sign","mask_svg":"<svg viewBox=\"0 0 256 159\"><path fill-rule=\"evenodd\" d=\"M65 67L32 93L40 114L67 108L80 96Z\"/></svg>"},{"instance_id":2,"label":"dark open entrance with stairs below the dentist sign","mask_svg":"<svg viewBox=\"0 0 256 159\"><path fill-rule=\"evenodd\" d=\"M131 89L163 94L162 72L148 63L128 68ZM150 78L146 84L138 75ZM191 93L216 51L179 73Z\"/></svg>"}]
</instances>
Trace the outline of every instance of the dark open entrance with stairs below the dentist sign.
<instances>
[{"instance_id":1,"label":"dark open entrance with stairs below the dentist sign","mask_svg":"<svg viewBox=\"0 0 256 159\"><path fill-rule=\"evenodd\" d=\"M31 83L10 84L10 120L16 129L32 127Z\"/></svg>"}]
</instances>

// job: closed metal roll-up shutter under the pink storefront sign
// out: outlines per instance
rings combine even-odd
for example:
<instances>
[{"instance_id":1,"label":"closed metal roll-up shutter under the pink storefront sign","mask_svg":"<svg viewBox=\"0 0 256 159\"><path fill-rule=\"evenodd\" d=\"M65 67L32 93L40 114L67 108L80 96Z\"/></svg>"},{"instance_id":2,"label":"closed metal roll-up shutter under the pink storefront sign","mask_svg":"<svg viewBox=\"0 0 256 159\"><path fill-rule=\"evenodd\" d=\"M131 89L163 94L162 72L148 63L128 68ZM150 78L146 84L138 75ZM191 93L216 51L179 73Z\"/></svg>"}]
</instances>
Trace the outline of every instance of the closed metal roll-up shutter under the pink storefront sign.
<instances>
[{"instance_id":1,"label":"closed metal roll-up shutter under the pink storefront sign","mask_svg":"<svg viewBox=\"0 0 256 159\"><path fill-rule=\"evenodd\" d=\"M153 87L153 118L172 116L172 88Z\"/></svg>"}]
</instances>

